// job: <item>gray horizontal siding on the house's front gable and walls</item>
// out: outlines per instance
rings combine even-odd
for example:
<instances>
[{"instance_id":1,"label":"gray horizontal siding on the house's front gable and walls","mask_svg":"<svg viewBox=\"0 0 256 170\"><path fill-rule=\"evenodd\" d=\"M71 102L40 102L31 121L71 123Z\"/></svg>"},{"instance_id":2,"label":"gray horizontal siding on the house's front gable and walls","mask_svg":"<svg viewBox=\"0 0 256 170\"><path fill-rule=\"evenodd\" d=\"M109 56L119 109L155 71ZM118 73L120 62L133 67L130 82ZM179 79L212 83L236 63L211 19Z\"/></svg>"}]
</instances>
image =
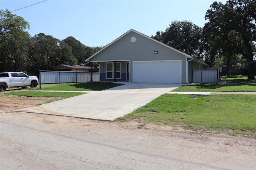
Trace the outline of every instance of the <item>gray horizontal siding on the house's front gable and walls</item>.
<instances>
[{"instance_id":1,"label":"gray horizontal siding on the house's front gable and walls","mask_svg":"<svg viewBox=\"0 0 256 170\"><path fill-rule=\"evenodd\" d=\"M134 43L131 38L136 37ZM158 51L158 54L154 54ZM90 59L91 62L105 61L130 61L130 81L132 81L132 62L133 61L165 61L165 60L181 60L182 61L182 82L186 79L186 57L160 43L148 39L135 32L130 32L118 41L114 42L106 49ZM106 64L100 64L100 72L105 72ZM121 67L121 69L126 67ZM157 69L157 68L152 68ZM122 70L123 71L123 70ZM126 70L124 70L126 71Z\"/></svg>"}]
</instances>

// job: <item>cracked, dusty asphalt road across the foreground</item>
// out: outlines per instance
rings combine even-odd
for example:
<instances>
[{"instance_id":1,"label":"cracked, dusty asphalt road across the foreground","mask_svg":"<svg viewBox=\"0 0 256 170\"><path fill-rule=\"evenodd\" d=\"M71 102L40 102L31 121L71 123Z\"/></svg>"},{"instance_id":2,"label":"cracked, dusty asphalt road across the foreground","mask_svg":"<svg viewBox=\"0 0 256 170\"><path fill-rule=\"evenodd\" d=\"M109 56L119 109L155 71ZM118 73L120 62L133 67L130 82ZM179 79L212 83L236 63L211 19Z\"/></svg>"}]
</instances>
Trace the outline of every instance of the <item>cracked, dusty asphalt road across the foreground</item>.
<instances>
[{"instance_id":1,"label":"cracked, dusty asphalt road across the foreground","mask_svg":"<svg viewBox=\"0 0 256 170\"><path fill-rule=\"evenodd\" d=\"M254 170L256 140L140 122L1 112L1 170Z\"/></svg>"}]
</instances>

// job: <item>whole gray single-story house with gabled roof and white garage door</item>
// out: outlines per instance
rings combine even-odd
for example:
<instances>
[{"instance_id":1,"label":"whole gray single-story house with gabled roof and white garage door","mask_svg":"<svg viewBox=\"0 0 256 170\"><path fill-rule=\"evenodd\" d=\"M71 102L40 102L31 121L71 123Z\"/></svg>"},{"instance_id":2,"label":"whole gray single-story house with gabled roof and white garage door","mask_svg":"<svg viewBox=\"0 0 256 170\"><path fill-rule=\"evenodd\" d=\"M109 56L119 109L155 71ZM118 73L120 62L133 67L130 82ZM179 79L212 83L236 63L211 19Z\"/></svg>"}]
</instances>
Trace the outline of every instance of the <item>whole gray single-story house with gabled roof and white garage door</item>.
<instances>
[{"instance_id":1,"label":"whole gray single-story house with gabled roof and white garage door","mask_svg":"<svg viewBox=\"0 0 256 170\"><path fill-rule=\"evenodd\" d=\"M85 61L100 64L100 81L116 78L116 81L129 82L190 83L192 70L208 67L204 62L133 29Z\"/></svg>"}]
</instances>

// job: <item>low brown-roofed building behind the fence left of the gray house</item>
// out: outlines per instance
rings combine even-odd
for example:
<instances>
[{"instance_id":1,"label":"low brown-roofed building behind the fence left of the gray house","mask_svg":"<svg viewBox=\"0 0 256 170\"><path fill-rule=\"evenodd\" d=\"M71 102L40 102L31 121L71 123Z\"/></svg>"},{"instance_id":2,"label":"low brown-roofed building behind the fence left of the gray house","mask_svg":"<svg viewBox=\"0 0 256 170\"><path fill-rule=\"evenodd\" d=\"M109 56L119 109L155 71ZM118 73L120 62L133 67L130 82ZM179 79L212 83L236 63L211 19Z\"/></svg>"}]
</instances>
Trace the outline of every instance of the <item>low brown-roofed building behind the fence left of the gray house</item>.
<instances>
[{"instance_id":1,"label":"low brown-roofed building behind the fence left of the gray house","mask_svg":"<svg viewBox=\"0 0 256 170\"><path fill-rule=\"evenodd\" d=\"M94 71L94 67L93 71ZM66 65L66 64L60 64L58 66L52 67L52 70L56 70L56 71L78 71L78 72L89 72L91 70L90 66L70 66L70 65Z\"/></svg>"}]
</instances>

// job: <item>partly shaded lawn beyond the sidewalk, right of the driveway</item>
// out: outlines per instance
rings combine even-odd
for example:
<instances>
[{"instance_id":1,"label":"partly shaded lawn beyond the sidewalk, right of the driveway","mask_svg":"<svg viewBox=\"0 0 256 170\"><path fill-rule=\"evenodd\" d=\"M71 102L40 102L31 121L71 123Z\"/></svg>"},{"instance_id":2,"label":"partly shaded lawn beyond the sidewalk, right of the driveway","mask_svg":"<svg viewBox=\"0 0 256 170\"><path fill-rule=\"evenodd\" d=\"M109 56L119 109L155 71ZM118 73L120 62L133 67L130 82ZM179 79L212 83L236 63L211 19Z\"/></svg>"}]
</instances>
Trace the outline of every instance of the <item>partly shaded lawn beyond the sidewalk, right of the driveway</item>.
<instances>
[{"instance_id":1,"label":"partly shaded lawn beyond the sidewalk, right of the driveway","mask_svg":"<svg viewBox=\"0 0 256 170\"><path fill-rule=\"evenodd\" d=\"M173 92L256 92L256 79L248 81L247 76L231 76L226 78L226 84L201 83L181 86Z\"/></svg>"}]
</instances>

